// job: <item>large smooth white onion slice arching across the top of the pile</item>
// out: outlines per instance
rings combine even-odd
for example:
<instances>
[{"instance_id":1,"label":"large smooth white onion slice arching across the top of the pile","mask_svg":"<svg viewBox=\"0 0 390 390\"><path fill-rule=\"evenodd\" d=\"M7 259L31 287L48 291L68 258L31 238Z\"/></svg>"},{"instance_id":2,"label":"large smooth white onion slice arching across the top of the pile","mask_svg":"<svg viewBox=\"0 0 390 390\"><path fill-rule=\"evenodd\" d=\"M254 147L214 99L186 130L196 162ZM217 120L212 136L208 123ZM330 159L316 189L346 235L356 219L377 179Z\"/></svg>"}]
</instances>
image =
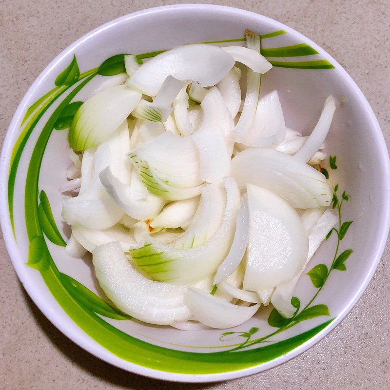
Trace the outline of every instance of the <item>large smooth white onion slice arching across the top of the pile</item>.
<instances>
[{"instance_id":1,"label":"large smooth white onion slice arching across the top of the pile","mask_svg":"<svg viewBox=\"0 0 390 390\"><path fill-rule=\"evenodd\" d=\"M156 96L164 80L194 80L203 87L215 85L234 66L233 57L220 47L209 44L179 46L144 63L128 83L145 95Z\"/></svg>"}]
</instances>

